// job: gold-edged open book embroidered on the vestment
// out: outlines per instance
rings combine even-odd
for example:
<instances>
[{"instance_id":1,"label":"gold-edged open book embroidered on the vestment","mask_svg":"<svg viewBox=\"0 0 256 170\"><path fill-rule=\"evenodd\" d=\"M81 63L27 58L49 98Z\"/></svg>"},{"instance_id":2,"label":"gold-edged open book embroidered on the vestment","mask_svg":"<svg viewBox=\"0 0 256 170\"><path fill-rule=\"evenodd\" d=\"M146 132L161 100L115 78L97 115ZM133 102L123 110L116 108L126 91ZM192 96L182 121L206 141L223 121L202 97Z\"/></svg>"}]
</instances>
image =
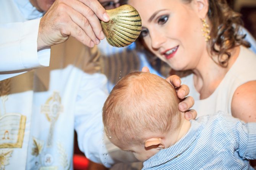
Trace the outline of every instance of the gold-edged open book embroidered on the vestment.
<instances>
[{"instance_id":1,"label":"gold-edged open book embroidered on the vestment","mask_svg":"<svg viewBox=\"0 0 256 170\"><path fill-rule=\"evenodd\" d=\"M0 148L21 148L26 116L8 113L0 117Z\"/></svg>"}]
</instances>

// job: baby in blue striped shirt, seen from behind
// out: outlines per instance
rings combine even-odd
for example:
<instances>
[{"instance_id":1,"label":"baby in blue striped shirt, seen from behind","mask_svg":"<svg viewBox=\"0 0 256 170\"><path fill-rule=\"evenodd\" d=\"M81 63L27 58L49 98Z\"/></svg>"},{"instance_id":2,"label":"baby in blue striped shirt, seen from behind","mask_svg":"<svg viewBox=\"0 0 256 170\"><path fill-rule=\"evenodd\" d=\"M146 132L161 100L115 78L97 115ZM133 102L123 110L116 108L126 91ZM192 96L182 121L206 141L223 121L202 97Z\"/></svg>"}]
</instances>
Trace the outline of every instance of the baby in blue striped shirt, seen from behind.
<instances>
[{"instance_id":1,"label":"baby in blue striped shirt, seen from behind","mask_svg":"<svg viewBox=\"0 0 256 170\"><path fill-rule=\"evenodd\" d=\"M143 170L251 169L256 159L256 123L221 112L188 121L175 89L157 75L130 73L103 107L109 140L133 152Z\"/></svg>"}]
</instances>

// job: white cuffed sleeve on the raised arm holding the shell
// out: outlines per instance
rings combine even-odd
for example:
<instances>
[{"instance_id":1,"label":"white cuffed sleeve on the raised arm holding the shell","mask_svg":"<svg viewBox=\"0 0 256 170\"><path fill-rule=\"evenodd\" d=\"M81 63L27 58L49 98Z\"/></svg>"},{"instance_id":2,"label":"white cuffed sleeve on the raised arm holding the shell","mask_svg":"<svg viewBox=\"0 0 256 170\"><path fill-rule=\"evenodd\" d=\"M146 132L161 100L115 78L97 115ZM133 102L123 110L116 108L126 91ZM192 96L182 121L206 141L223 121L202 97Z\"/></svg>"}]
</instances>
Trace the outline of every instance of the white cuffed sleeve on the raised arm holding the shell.
<instances>
[{"instance_id":1,"label":"white cuffed sleeve on the raised arm holding the shell","mask_svg":"<svg viewBox=\"0 0 256 170\"><path fill-rule=\"evenodd\" d=\"M37 51L40 19L0 24L0 80L49 66L50 48Z\"/></svg>"}]
</instances>

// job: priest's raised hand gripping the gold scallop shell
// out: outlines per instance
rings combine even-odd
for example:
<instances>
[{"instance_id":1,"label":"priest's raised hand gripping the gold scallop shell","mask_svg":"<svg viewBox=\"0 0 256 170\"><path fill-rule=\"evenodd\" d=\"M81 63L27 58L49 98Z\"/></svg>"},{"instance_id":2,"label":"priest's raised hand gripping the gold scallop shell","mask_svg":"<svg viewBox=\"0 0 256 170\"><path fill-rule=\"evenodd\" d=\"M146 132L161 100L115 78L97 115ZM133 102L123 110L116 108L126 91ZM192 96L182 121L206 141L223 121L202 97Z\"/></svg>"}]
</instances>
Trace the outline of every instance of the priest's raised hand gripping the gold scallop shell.
<instances>
[{"instance_id":1,"label":"priest's raised hand gripping the gold scallop shell","mask_svg":"<svg viewBox=\"0 0 256 170\"><path fill-rule=\"evenodd\" d=\"M40 21L37 49L62 43L69 36L93 47L104 38L99 19L109 21L98 0L56 0Z\"/></svg>"}]
</instances>

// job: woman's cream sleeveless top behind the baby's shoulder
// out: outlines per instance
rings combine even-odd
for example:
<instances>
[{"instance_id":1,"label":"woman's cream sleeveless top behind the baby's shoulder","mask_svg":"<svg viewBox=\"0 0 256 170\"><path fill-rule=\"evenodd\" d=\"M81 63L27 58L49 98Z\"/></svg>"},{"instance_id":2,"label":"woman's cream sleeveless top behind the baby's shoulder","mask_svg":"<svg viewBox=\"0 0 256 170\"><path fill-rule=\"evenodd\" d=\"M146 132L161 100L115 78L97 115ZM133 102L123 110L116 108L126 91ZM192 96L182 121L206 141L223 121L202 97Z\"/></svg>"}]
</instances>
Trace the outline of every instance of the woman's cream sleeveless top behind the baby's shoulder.
<instances>
[{"instance_id":1,"label":"woman's cream sleeveless top behind the baby's shoulder","mask_svg":"<svg viewBox=\"0 0 256 170\"><path fill-rule=\"evenodd\" d=\"M240 54L219 86L206 99L199 100L200 94L194 87L193 74L181 79L190 88L190 96L195 100L193 109L198 116L217 113L222 110L231 114L231 102L235 90L242 84L256 80L256 54L250 49L240 47Z\"/></svg>"}]
</instances>

